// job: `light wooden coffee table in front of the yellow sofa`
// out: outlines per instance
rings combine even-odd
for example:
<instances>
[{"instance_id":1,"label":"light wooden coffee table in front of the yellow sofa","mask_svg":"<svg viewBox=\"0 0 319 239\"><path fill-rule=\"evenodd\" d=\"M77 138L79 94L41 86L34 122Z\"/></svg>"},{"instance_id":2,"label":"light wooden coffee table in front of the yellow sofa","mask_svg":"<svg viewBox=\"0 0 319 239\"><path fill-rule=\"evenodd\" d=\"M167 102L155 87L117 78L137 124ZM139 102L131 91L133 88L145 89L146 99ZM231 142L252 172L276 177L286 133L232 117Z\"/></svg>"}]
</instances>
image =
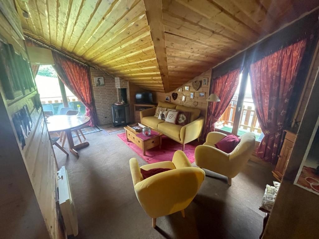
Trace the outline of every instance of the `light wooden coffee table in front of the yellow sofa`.
<instances>
[{"instance_id":1,"label":"light wooden coffee table in front of the yellow sofa","mask_svg":"<svg viewBox=\"0 0 319 239\"><path fill-rule=\"evenodd\" d=\"M156 146L159 146L159 149L162 145L162 133L160 133L157 130L152 129L153 131L158 132L158 135L153 136L152 138L149 138L147 140L142 140L141 138L137 137L136 135L141 133L141 132L135 132L133 129L130 127L124 127L126 131L126 140L129 142L133 142L136 144L139 148L143 150L143 155L145 156L145 151L154 148Z\"/></svg>"}]
</instances>

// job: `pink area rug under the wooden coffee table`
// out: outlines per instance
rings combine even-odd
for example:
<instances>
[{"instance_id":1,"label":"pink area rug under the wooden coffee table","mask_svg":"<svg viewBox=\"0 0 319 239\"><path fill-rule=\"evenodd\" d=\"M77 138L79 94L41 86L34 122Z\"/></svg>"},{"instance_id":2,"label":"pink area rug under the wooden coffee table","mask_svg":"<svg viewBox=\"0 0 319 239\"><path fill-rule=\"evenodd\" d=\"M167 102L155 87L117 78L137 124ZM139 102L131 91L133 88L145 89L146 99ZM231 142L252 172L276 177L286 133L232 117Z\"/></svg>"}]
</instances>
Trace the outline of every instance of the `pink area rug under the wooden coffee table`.
<instances>
[{"instance_id":1,"label":"pink area rug under the wooden coffee table","mask_svg":"<svg viewBox=\"0 0 319 239\"><path fill-rule=\"evenodd\" d=\"M182 150L182 144L176 141L162 136L162 147L154 147L145 152L146 156L143 155L142 149L138 148L133 142L126 141L126 133L117 135L127 146L133 149L141 158L147 163L157 163L162 161L172 161L173 155L176 150ZM187 155L189 162L195 161L194 152L197 145L200 145L196 140L185 144L184 153Z\"/></svg>"}]
</instances>

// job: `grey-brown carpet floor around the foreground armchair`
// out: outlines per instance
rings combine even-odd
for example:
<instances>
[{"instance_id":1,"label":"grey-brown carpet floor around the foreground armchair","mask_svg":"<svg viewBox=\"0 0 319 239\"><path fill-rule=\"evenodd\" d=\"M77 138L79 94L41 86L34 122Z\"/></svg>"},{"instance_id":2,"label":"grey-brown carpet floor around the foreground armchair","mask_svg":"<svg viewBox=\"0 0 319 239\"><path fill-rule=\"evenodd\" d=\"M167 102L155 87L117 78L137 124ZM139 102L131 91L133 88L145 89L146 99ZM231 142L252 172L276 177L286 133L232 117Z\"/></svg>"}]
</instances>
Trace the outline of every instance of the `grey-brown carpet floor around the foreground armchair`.
<instances>
[{"instance_id":1,"label":"grey-brown carpet floor around the foreground armchair","mask_svg":"<svg viewBox=\"0 0 319 239\"><path fill-rule=\"evenodd\" d=\"M266 184L272 185L271 166L249 161L244 170L227 178L205 170L206 178L186 217L174 213L157 219L145 214L137 201L129 160L146 164L116 134L87 134L90 146L77 159L54 146L59 167L68 170L78 214L77 239L102 238L258 238L264 214L258 210ZM78 142L74 138L75 143ZM193 164L194 165L194 164ZM195 166L195 165L194 165Z\"/></svg>"}]
</instances>

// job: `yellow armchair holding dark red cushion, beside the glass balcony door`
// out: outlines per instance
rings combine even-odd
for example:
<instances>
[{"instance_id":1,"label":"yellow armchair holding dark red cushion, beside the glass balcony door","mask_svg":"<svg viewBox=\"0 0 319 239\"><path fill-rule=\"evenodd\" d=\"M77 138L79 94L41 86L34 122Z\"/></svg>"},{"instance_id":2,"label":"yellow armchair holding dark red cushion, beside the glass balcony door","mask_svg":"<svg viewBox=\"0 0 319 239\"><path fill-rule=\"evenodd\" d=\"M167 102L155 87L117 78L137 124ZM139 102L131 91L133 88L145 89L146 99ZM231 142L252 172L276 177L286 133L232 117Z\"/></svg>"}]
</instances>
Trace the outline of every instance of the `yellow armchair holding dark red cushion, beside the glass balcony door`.
<instances>
[{"instance_id":1,"label":"yellow armchair holding dark red cushion, beside the glass balcony door","mask_svg":"<svg viewBox=\"0 0 319 239\"><path fill-rule=\"evenodd\" d=\"M195 163L200 168L228 177L228 185L232 185L232 178L242 170L255 148L255 134L243 134L239 144L229 154L215 147L225 136L226 134L219 132L209 133L206 142L195 148Z\"/></svg>"}]
</instances>

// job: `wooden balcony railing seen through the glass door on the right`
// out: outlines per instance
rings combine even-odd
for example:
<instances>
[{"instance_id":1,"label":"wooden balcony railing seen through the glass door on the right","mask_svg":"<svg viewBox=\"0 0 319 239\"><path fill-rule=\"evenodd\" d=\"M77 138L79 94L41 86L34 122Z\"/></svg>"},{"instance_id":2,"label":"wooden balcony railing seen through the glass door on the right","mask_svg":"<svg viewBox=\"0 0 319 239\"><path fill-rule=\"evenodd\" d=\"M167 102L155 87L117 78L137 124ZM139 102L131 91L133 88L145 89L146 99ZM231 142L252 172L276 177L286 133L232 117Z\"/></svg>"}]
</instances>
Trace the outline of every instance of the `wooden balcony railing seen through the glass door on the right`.
<instances>
[{"instance_id":1,"label":"wooden balcony railing seen through the glass door on the right","mask_svg":"<svg viewBox=\"0 0 319 239\"><path fill-rule=\"evenodd\" d=\"M220 119L216 122L216 127L219 129L232 128L234 125L235 111L237 101L232 101ZM242 135L244 132L253 132L256 136L262 133L261 128L256 117L255 110L252 109L251 102L244 102L243 109L241 111L241 117L238 127L238 135ZM225 130L227 131L227 130Z\"/></svg>"}]
</instances>

